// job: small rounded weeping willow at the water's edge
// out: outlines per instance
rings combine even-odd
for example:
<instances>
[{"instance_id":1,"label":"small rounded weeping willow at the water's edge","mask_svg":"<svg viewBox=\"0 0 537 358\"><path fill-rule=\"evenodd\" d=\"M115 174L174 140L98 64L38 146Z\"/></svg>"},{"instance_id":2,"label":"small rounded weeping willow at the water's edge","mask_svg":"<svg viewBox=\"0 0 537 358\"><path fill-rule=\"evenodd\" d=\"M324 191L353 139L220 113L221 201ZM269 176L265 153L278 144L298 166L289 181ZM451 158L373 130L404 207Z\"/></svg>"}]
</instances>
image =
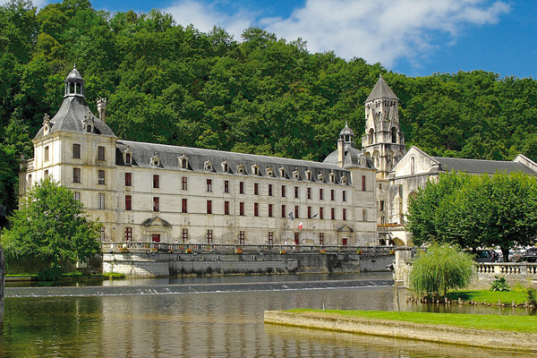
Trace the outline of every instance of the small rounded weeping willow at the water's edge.
<instances>
[{"instance_id":1,"label":"small rounded weeping willow at the water's edge","mask_svg":"<svg viewBox=\"0 0 537 358\"><path fill-rule=\"evenodd\" d=\"M470 285L474 274L472 257L457 246L432 243L413 260L408 277L410 289L416 294L446 296L450 289Z\"/></svg>"}]
</instances>

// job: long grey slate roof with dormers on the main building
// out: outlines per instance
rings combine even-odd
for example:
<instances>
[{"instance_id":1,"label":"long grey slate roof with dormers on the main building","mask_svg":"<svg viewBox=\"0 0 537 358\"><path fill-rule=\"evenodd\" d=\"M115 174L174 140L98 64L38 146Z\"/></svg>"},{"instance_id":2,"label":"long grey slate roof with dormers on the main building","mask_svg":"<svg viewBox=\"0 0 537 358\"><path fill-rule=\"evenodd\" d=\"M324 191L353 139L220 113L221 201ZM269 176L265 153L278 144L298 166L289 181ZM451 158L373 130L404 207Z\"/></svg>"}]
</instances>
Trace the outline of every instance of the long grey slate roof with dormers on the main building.
<instances>
[{"instance_id":1,"label":"long grey slate roof with dormers on the main building","mask_svg":"<svg viewBox=\"0 0 537 358\"><path fill-rule=\"evenodd\" d=\"M151 166L151 158L157 153L160 165L159 167L178 171L195 171L207 172L205 170L205 162L209 159L212 163L210 172L217 174L225 174L222 162L227 160L229 163L228 174L237 174L237 166L243 165L245 176L251 176L252 166L259 166L260 177L266 177L266 169L272 168L274 177L280 178L280 167L286 169L286 179L293 179L293 172L298 170L300 181L306 181L306 171L311 170L311 182L318 181L318 175L324 176L324 183L329 183L329 175L333 171L336 175L336 183L341 183L343 175L347 178L347 184L351 183L351 175L348 170L337 166L337 164L320 163L308 160L277 158L260 156L254 154L234 153L222 150L199 149L188 147L177 147L166 144L144 143L140 141L116 141L116 156L115 162L117 166L129 166L124 163L123 152L125 150L132 152L132 166L156 168ZM182 156L188 158L188 169L182 169L179 163L179 158ZM158 168L156 168L158 169Z\"/></svg>"}]
</instances>

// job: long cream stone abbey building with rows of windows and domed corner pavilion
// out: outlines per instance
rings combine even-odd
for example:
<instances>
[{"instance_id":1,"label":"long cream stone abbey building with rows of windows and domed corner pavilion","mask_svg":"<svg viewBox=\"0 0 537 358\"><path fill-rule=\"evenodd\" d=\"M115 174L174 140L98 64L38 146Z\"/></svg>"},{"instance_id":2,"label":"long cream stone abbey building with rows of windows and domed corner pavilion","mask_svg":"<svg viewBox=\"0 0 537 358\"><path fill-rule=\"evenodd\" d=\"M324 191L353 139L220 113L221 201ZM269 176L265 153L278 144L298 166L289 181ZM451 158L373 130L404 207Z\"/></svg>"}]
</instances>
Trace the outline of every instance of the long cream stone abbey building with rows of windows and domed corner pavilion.
<instances>
[{"instance_id":1,"label":"long cream stone abbey building with rows of windows and domed corner pavilion","mask_svg":"<svg viewBox=\"0 0 537 358\"><path fill-rule=\"evenodd\" d=\"M118 140L73 69L23 163L20 195L52 176L111 241L368 244L376 240L375 168L345 126L324 163Z\"/></svg>"}]
</instances>

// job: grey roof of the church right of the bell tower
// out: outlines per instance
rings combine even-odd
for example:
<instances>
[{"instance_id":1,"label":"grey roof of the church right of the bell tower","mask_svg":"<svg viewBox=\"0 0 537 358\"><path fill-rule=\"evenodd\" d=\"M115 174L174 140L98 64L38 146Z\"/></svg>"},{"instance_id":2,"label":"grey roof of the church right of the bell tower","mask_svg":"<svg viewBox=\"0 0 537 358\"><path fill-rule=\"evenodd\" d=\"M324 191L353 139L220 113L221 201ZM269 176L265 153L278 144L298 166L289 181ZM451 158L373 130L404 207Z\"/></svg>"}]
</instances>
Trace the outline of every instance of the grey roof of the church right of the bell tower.
<instances>
[{"instance_id":1,"label":"grey roof of the church right of the bell tower","mask_svg":"<svg viewBox=\"0 0 537 358\"><path fill-rule=\"evenodd\" d=\"M452 170L466 173L488 173L494 174L497 171L513 173L521 171L529 175L537 175L530 167L522 163L511 161L482 160L482 159L463 159L463 158L444 158L431 157L440 164L439 171L450 172Z\"/></svg>"}]
</instances>

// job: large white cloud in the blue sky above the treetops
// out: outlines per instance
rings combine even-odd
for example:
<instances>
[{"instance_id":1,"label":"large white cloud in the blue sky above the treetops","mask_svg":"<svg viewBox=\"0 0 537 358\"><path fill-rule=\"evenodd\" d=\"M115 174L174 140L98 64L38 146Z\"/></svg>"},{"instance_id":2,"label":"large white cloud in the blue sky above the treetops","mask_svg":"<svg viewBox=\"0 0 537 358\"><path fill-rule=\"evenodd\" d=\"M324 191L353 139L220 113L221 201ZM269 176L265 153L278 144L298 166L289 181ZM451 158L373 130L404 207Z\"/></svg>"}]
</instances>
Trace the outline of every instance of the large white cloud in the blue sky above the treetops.
<instances>
[{"instance_id":1,"label":"large white cloud in the blue sky above the treetops","mask_svg":"<svg viewBox=\"0 0 537 358\"><path fill-rule=\"evenodd\" d=\"M415 63L442 41L509 11L504 2L485 0L308 0L287 19L260 23L287 40L303 38L311 52L333 50L390 67L403 57Z\"/></svg>"}]
</instances>

